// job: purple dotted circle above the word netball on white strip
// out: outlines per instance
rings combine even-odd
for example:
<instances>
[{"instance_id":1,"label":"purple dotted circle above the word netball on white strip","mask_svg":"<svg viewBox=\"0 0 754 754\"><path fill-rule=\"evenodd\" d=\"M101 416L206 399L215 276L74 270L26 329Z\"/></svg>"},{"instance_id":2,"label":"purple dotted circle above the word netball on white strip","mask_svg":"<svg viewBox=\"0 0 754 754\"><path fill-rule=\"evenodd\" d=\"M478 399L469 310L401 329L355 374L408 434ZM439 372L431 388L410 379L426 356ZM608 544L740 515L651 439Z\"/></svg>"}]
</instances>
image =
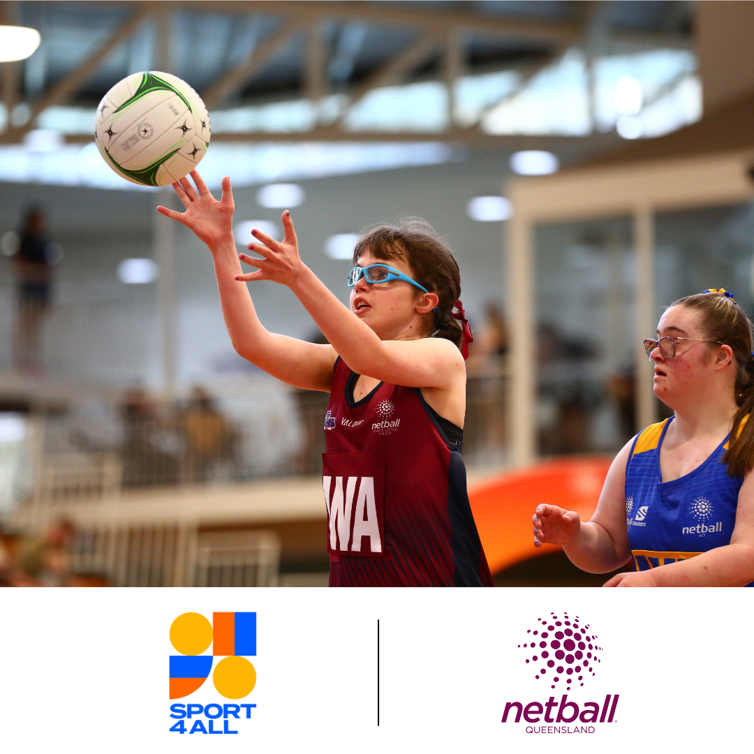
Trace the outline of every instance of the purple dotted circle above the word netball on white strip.
<instances>
[{"instance_id":1,"label":"purple dotted circle above the word netball on white strip","mask_svg":"<svg viewBox=\"0 0 754 754\"><path fill-rule=\"evenodd\" d=\"M569 618L567 613L550 618L537 618L538 627L526 632L526 642L518 645L525 651L523 658L532 666L535 679L566 686L566 691L584 685L594 676L601 662L597 636L581 618Z\"/></svg>"}]
</instances>

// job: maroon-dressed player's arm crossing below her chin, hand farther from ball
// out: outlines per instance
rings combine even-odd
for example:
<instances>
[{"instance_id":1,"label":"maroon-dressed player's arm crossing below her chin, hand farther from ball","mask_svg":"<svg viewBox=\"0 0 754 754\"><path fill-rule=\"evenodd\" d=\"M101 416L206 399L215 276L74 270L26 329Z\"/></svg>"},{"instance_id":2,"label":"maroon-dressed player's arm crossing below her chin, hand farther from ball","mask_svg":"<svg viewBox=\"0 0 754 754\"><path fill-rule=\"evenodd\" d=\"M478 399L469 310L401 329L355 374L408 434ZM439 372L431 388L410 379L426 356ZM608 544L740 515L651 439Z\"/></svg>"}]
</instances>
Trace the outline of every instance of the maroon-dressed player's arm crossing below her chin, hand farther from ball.
<instances>
[{"instance_id":1,"label":"maroon-dressed player's arm crossing below her chin, hand farther from ball","mask_svg":"<svg viewBox=\"0 0 754 754\"><path fill-rule=\"evenodd\" d=\"M413 388L449 388L454 381L465 379L463 357L448 340L381 340L301 261L290 213L285 212L282 219L284 241L252 231L262 244L249 244L249 249L262 259L241 254L241 260L259 269L237 275L237 280L274 280L287 285L336 352L358 374ZM422 306L430 312L437 305L437 294L428 293L425 298Z\"/></svg>"}]
</instances>

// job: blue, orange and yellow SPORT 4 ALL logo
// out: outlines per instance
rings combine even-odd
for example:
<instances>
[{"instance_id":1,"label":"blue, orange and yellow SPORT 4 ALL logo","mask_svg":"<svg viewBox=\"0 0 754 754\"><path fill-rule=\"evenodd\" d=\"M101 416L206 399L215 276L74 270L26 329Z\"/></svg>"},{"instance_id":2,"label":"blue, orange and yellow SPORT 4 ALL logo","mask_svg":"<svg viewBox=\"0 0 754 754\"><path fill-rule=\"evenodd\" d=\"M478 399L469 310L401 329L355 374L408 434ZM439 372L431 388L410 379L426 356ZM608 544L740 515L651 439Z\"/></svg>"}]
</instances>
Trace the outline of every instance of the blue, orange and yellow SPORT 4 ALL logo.
<instances>
[{"instance_id":1,"label":"blue, orange and yellow SPORT 4 ALL logo","mask_svg":"<svg viewBox=\"0 0 754 754\"><path fill-rule=\"evenodd\" d=\"M170 644L180 653L170 655L170 699L194 694L210 673L214 690L225 699L244 699L256 686L256 669L247 659L256 657L256 612L216 612L211 624L199 613L183 613L170 625ZM234 721L250 719L255 707L256 703L171 704L170 717L178 722L170 731L238 734L231 730L238 725Z\"/></svg>"}]
</instances>

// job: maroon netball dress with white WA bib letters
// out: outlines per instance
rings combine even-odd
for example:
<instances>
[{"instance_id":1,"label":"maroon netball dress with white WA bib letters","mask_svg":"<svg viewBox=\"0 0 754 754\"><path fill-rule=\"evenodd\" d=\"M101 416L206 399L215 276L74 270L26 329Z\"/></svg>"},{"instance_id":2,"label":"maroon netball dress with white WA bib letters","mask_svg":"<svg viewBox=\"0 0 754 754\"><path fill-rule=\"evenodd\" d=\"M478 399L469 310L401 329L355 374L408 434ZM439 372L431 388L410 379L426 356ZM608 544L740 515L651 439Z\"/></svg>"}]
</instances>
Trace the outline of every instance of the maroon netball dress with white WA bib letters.
<instances>
[{"instance_id":1,"label":"maroon netball dress with white WA bib letters","mask_svg":"<svg viewBox=\"0 0 754 754\"><path fill-rule=\"evenodd\" d=\"M381 382L354 401L358 377L336 361L322 455L329 585L494 586L466 492L461 430L418 388Z\"/></svg>"}]
</instances>

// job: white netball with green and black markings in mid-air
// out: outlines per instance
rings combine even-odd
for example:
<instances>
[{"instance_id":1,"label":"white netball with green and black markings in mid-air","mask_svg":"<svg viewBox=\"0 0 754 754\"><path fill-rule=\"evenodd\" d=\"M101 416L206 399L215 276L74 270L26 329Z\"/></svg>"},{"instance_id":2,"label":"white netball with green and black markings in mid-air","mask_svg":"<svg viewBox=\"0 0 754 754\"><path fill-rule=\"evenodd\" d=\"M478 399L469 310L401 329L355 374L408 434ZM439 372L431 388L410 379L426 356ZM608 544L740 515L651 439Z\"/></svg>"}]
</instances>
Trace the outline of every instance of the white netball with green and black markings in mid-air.
<instances>
[{"instance_id":1,"label":"white netball with green and black markings in mid-air","mask_svg":"<svg viewBox=\"0 0 754 754\"><path fill-rule=\"evenodd\" d=\"M194 170L206 154L210 116L201 97L177 76L133 73L97 107L94 139L119 176L164 186Z\"/></svg>"}]
</instances>

